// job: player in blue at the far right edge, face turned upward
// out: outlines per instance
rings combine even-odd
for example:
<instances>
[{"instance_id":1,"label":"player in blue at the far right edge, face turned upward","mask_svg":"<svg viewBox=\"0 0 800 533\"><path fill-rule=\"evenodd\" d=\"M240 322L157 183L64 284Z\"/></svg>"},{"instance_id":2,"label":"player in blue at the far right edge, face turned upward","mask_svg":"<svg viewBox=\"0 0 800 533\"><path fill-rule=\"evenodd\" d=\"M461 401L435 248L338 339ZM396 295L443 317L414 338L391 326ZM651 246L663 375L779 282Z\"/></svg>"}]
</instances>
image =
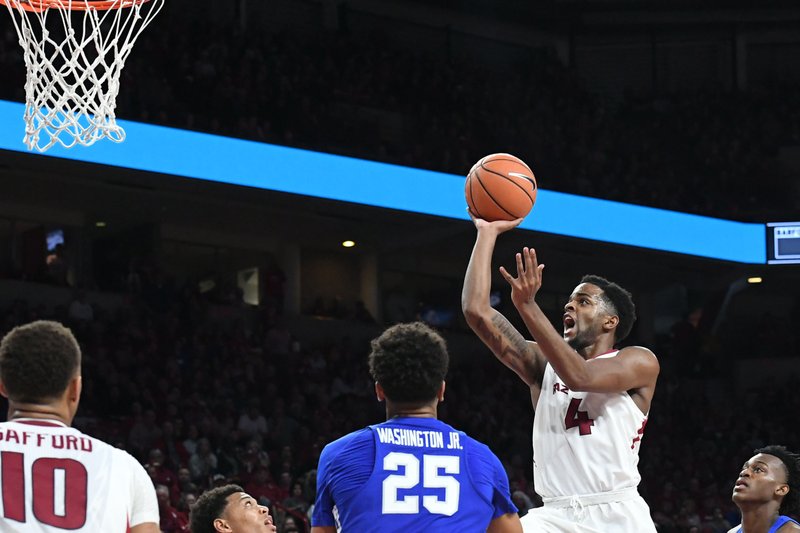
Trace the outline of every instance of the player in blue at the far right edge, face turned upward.
<instances>
[{"instance_id":1,"label":"player in blue at the far right edge, face turned upward","mask_svg":"<svg viewBox=\"0 0 800 533\"><path fill-rule=\"evenodd\" d=\"M742 523L728 533L788 533L800 524L800 455L783 446L765 446L745 461L733 486Z\"/></svg>"}]
</instances>

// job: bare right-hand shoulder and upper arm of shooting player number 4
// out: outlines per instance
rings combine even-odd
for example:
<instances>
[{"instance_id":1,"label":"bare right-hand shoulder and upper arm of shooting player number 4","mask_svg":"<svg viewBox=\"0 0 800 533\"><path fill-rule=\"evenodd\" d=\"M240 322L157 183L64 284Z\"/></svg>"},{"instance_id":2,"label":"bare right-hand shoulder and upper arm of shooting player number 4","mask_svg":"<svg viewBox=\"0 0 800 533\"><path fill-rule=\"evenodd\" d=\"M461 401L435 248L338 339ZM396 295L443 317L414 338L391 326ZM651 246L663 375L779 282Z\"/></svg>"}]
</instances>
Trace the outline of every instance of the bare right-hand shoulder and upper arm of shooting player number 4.
<instances>
[{"instance_id":1,"label":"bare right-hand shoulder and upper arm of shooting player number 4","mask_svg":"<svg viewBox=\"0 0 800 533\"><path fill-rule=\"evenodd\" d=\"M586 370L580 382L571 385L572 390L625 392L654 387L660 366L656 356L647 348L628 346L615 357L599 357L586 361Z\"/></svg>"}]
</instances>

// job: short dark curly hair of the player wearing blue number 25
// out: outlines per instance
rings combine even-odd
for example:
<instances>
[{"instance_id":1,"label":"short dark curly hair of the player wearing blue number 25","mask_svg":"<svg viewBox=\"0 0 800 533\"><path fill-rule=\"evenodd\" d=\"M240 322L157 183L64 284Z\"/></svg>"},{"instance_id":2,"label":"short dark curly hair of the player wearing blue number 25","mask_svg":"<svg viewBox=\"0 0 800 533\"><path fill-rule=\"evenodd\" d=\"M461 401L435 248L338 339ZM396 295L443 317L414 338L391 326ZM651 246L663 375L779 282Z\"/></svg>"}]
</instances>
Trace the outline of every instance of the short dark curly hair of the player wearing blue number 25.
<instances>
[{"instance_id":1,"label":"short dark curly hair of the player wearing blue number 25","mask_svg":"<svg viewBox=\"0 0 800 533\"><path fill-rule=\"evenodd\" d=\"M447 375L445 340L422 322L396 324L373 339L369 371L395 402L428 402Z\"/></svg>"}]
</instances>

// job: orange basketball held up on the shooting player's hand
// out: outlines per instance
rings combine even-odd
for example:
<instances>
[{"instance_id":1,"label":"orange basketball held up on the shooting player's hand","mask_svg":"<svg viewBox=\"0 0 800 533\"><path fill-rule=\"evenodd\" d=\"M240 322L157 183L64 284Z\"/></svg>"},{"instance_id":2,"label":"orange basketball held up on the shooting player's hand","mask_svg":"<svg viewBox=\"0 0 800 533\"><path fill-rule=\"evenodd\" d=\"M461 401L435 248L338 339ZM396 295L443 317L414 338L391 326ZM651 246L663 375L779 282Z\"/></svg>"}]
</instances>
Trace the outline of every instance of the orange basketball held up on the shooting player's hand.
<instances>
[{"instance_id":1,"label":"orange basketball held up on the shooting player's hand","mask_svg":"<svg viewBox=\"0 0 800 533\"><path fill-rule=\"evenodd\" d=\"M464 188L472 214L490 222L525 217L536 191L533 171L511 154L491 154L475 163Z\"/></svg>"}]
</instances>

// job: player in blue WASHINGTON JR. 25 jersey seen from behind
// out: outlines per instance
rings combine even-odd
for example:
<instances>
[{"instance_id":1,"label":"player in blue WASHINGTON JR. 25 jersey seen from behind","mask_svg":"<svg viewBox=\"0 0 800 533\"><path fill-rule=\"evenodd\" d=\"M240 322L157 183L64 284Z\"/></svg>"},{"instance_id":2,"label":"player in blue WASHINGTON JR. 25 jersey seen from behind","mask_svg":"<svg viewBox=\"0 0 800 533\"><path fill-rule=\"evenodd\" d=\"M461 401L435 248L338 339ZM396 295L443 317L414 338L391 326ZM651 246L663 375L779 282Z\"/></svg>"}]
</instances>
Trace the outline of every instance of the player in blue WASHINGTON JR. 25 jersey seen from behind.
<instances>
[{"instance_id":1,"label":"player in blue WASHINGTON JR. 25 jersey seen from behind","mask_svg":"<svg viewBox=\"0 0 800 533\"><path fill-rule=\"evenodd\" d=\"M322 451L312 533L522 531L497 457L436 418L448 364L444 339L421 322L372 341L387 421Z\"/></svg>"}]
</instances>

